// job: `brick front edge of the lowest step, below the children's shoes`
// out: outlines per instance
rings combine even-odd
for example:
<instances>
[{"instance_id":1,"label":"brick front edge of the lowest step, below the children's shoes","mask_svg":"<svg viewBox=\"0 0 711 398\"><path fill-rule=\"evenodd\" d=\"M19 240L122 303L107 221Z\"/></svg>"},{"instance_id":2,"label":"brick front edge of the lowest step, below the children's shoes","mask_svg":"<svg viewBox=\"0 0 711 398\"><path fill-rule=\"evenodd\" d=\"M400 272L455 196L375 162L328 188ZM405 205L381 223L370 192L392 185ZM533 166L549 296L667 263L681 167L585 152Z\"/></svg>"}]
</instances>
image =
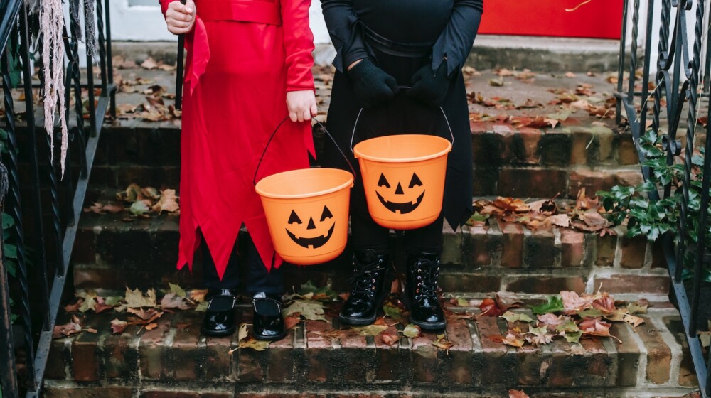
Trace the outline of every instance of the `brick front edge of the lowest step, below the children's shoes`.
<instances>
[{"instance_id":1,"label":"brick front edge of the lowest step, below the children's shoes","mask_svg":"<svg viewBox=\"0 0 711 398\"><path fill-rule=\"evenodd\" d=\"M560 340L523 351L506 347L488 338L506 330L503 321L481 316L468 321L449 320L447 338L454 346L447 353L432 345L434 333L403 338L390 347L363 336L331 341L320 332L338 328L337 322L302 321L287 338L272 343L267 350L242 349L230 355L230 348L237 347L237 334L230 338L201 336L198 328L201 313L164 315L158 328L139 335L136 326L129 327L123 335L110 335L107 326L112 314L99 314L87 318L86 325L97 328L97 334L83 333L53 342L47 377L102 382L102 385L114 379L120 379L119 383L124 385L141 385L143 380L264 381L267 385L269 382L322 385L394 382L432 386L444 383L454 387L454 391L456 387L470 389L471 385L636 386L650 390L680 384L693 387L695 376L688 355L684 355L683 329L670 330L674 322L680 323L678 314L668 310L642 317L646 323L636 330L626 323L614 323L611 333L622 343L611 339L581 340L588 351L582 356L570 353L570 345ZM343 372L329 365L332 361L346 360L348 357L344 355L353 355L351 360L361 363L363 368ZM393 368L395 363L400 364L397 369ZM501 366L506 366L507 372L497 375Z\"/></svg>"}]
</instances>

